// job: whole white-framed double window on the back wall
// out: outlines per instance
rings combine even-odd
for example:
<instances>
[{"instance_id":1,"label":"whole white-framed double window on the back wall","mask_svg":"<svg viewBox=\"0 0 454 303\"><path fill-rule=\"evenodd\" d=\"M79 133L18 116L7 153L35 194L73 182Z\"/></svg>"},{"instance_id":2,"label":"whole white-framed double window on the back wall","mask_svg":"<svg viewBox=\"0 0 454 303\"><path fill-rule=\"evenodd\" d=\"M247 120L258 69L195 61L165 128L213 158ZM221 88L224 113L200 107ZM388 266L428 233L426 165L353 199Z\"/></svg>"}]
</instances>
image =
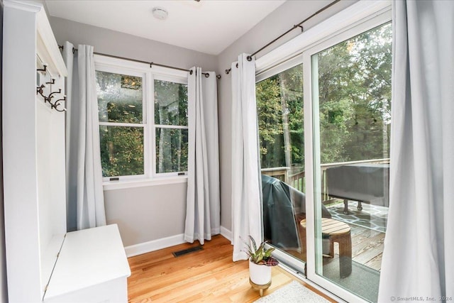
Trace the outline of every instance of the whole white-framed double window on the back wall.
<instances>
[{"instance_id":1,"label":"whole white-framed double window on the back wall","mask_svg":"<svg viewBox=\"0 0 454 303\"><path fill-rule=\"evenodd\" d=\"M96 94L105 181L185 174L186 72L96 56Z\"/></svg>"}]
</instances>

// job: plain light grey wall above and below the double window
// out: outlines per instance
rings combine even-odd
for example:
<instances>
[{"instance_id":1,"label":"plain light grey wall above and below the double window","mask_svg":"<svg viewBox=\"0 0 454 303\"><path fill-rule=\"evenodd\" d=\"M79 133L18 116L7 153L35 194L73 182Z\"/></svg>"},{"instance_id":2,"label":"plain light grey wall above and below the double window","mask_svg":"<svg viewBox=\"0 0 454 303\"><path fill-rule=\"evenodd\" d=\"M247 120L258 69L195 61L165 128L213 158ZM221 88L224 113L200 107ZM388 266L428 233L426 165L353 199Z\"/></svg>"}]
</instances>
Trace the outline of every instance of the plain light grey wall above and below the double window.
<instances>
[{"instance_id":1,"label":"plain light grey wall above and below the double window","mask_svg":"<svg viewBox=\"0 0 454 303\"><path fill-rule=\"evenodd\" d=\"M105 53L164 65L214 70L217 58L134 35L50 17L57 43L89 44ZM107 224L118 224L125 246L184 233L186 183L104 191ZM74 209L72 210L74 211Z\"/></svg>"}]
</instances>

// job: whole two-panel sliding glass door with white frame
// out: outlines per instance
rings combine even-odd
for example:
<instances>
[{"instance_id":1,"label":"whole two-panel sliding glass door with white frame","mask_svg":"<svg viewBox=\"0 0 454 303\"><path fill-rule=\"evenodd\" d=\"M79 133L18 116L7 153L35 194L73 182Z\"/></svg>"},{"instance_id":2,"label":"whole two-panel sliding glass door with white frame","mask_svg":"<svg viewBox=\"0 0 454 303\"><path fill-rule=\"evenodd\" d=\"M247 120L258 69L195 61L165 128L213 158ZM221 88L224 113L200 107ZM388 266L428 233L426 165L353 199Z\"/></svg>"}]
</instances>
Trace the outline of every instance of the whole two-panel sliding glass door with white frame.
<instances>
[{"instance_id":1,"label":"whole two-panel sliding glass door with white frame","mask_svg":"<svg viewBox=\"0 0 454 303\"><path fill-rule=\"evenodd\" d=\"M348 302L377 302L389 207L389 20L383 9L336 35L308 35L300 55L257 76L265 240L282 263Z\"/></svg>"}]
</instances>

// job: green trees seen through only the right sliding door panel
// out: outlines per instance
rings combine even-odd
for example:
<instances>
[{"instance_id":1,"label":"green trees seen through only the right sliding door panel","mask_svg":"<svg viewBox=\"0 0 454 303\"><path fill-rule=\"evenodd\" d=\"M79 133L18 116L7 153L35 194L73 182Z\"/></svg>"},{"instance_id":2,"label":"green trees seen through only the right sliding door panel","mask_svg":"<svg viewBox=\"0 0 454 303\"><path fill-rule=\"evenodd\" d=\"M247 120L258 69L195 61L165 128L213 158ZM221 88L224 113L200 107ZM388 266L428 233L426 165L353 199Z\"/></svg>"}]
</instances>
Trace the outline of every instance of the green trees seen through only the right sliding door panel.
<instances>
[{"instance_id":1,"label":"green trees seen through only the right sliding door panel","mask_svg":"<svg viewBox=\"0 0 454 303\"><path fill-rule=\"evenodd\" d=\"M392 27L318 54L321 162L389 157Z\"/></svg>"}]
</instances>

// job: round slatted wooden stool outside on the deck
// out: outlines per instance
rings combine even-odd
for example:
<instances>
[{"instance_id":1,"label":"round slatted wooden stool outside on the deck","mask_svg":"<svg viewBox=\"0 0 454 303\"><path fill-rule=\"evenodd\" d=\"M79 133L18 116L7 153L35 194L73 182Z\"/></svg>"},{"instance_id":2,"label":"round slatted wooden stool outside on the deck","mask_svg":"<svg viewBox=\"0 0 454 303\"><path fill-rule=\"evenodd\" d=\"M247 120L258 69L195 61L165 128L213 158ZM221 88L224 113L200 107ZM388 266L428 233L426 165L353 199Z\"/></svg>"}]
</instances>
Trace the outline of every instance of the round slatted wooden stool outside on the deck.
<instances>
[{"instance_id":1,"label":"round slatted wooden stool outside on the deck","mask_svg":"<svg viewBox=\"0 0 454 303\"><path fill-rule=\"evenodd\" d=\"M306 229L306 219L301 220ZM334 257L334 242L339 243L339 268L341 277L348 277L352 272L352 237L350 226L334 219L321 219L321 233L329 239L329 254Z\"/></svg>"}]
</instances>

